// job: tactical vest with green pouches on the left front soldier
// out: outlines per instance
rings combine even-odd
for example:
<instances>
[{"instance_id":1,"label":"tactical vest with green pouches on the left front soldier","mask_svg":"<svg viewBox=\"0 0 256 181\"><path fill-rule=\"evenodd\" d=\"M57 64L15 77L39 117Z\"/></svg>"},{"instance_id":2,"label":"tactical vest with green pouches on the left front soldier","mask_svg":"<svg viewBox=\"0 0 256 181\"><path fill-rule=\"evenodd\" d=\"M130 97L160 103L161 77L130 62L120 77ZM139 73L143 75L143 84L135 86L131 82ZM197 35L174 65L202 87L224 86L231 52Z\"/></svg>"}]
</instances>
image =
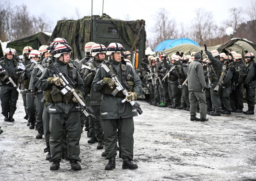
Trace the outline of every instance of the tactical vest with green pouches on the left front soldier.
<instances>
[{"instance_id":1,"label":"tactical vest with green pouches on the left front soldier","mask_svg":"<svg viewBox=\"0 0 256 181\"><path fill-rule=\"evenodd\" d=\"M53 64L56 67L56 63ZM68 63L67 69L68 69L68 76L73 80L73 64ZM64 102L66 104L72 102L73 94L68 91L65 95L62 95L60 93L60 87L56 85L49 86L49 89L44 91L44 97L46 102ZM79 93L77 89L75 89L76 93Z\"/></svg>"}]
</instances>

